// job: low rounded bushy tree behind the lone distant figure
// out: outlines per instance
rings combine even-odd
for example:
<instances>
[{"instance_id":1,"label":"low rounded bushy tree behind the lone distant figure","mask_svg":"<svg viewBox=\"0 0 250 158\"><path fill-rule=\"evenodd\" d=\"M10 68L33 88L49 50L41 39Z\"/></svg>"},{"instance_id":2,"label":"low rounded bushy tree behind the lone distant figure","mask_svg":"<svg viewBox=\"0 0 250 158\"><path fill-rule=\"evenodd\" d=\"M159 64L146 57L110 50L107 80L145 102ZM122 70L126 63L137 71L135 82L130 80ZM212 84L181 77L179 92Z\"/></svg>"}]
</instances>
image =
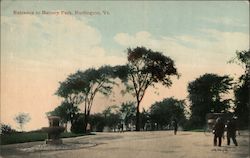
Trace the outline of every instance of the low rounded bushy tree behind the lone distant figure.
<instances>
[{"instance_id":1,"label":"low rounded bushy tree behind the lone distant figure","mask_svg":"<svg viewBox=\"0 0 250 158\"><path fill-rule=\"evenodd\" d=\"M160 128L168 126L175 118L182 124L185 120L185 101L174 98L166 98L160 102L154 103L150 107L150 116L154 123Z\"/></svg>"}]
</instances>

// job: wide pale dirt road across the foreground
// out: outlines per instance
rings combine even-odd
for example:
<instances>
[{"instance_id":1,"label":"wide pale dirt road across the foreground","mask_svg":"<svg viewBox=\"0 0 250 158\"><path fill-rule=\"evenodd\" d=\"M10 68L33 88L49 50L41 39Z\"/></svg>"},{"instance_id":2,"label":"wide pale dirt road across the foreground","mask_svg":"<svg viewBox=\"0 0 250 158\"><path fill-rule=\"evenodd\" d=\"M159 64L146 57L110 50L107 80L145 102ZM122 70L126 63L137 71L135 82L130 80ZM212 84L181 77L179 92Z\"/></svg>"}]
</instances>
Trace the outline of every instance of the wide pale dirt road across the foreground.
<instances>
[{"instance_id":1,"label":"wide pale dirt road across the foreground","mask_svg":"<svg viewBox=\"0 0 250 158\"><path fill-rule=\"evenodd\" d=\"M242 132L241 132L242 133ZM2 146L6 158L250 158L249 132L237 136L239 146L214 147L202 132L125 132L64 139L61 147L43 142Z\"/></svg>"}]
</instances>

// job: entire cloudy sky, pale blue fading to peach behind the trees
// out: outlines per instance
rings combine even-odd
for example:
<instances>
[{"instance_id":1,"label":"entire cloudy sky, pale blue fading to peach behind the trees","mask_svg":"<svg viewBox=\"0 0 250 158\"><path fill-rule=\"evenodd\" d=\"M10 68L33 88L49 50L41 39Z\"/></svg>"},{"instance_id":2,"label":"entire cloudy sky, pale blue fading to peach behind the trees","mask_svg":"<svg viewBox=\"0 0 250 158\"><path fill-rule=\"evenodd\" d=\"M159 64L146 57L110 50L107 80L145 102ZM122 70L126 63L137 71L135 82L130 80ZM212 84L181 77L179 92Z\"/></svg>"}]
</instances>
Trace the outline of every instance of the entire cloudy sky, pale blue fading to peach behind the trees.
<instances>
[{"instance_id":1,"label":"entire cloudy sky, pale blue fading to peach behind the trees","mask_svg":"<svg viewBox=\"0 0 250 158\"><path fill-rule=\"evenodd\" d=\"M1 123L29 113L25 130L48 126L46 112L69 74L126 63L126 49L145 46L176 64L171 88L148 89L142 107L163 98L187 99L187 85L205 73L243 73L228 64L249 49L247 1L1 1ZM92 113L133 100L120 87L96 96Z\"/></svg>"}]
</instances>

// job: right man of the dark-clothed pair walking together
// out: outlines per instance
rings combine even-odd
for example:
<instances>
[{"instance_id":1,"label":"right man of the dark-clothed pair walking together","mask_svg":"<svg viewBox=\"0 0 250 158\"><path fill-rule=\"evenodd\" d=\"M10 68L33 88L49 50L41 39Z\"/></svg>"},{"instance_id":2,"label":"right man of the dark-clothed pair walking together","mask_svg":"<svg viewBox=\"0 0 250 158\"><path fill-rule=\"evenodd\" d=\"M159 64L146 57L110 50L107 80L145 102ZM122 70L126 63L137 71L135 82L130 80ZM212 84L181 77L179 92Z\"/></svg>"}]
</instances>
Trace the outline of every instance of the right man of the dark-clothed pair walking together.
<instances>
[{"instance_id":1,"label":"right man of the dark-clothed pair walking together","mask_svg":"<svg viewBox=\"0 0 250 158\"><path fill-rule=\"evenodd\" d=\"M236 120L234 118L227 122L227 145L230 145L230 139L232 138L234 145L238 146L236 141Z\"/></svg>"}]
</instances>

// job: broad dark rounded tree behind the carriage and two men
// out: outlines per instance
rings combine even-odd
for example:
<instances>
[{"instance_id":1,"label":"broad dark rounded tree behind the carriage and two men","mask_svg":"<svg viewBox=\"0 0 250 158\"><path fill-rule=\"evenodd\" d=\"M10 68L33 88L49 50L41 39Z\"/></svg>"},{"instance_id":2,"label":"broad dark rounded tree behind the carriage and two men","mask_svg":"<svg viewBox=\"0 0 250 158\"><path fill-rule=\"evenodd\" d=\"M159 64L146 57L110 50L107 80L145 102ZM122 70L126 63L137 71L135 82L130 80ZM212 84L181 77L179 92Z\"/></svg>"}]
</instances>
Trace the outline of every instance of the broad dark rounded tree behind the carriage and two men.
<instances>
[{"instance_id":1,"label":"broad dark rounded tree behind the carriage and two men","mask_svg":"<svg viewBox=\"0 0 250 158\"><path fill-rule=\"evenodd\" d=\"M227 75L204 74L188 84L193 124L203 126L207 113L228 112L231 99L223 99L223 95L232 89L232 81Z\"/></svg>"}]
</instances>

